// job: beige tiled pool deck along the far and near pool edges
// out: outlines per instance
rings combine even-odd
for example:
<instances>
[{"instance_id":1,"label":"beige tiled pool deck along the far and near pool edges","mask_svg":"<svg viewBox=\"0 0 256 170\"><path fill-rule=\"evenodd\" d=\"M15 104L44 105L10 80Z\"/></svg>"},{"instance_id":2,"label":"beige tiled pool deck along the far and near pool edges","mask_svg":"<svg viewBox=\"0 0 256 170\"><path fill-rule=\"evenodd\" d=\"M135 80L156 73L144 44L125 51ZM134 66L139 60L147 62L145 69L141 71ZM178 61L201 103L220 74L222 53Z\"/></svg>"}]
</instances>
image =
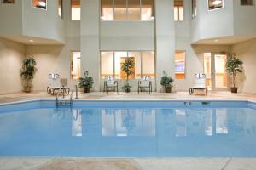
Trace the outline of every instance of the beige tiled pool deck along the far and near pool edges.
<instances>
[{"instance_id":1,"label":"beige tiled pool deck along the far and near pool edges","mask_svg":"<svg viewBox=\"0 0 256 170\"><path fill-rule=\"evenodd\" d=\"M68 96L66 96L67 98ZM0 95L0 103L8 103L30 99L55 99L55 96L45 92L34 92L31 94L16 93ZM147 100L147 99L246 99L256 101L253 94L230 94L230 92L210 93L208 96L193 95L188 92L173 94L162 93L90 93L79 94L79 99L100 100ZM81 159L81 158L0 158L0 169L2 170L59 170L59 169L84 169L84 170L255 170L256 158L150 158L150 159Z\"/></svg>"}]
</instances>

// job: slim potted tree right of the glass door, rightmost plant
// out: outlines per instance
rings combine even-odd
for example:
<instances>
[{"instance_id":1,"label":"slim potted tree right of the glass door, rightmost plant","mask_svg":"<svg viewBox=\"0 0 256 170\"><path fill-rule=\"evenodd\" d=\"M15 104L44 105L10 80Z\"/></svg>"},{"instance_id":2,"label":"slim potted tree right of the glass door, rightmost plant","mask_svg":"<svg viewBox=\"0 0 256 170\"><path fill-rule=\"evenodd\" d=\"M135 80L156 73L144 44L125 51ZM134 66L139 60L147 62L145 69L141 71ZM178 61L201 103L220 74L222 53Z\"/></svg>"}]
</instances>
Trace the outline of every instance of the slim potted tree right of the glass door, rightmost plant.
<instances>
[{"instance_id":1,"label":"slim potted tree right of the glass door, rightmost plant","mask_svg":"<svg viewBox=\"0 0 256 170\"><path fill-rule=\"evenodd\" d=\"M237 93L236 75L242 72L242 61L236 59L236 55L232 54L231 57L227 59L226 70L232 79L233 87L230 88L231 93Z\"/></svg>"}]
</instances>

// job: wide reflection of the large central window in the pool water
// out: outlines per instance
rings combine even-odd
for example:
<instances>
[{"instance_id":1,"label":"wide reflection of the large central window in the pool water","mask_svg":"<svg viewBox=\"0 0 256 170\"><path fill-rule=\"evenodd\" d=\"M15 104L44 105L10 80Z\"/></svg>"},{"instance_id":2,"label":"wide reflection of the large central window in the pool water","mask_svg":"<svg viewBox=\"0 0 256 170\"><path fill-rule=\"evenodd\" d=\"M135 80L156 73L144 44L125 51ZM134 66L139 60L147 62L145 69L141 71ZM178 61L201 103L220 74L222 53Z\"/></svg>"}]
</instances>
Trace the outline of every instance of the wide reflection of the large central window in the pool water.
<instances>
[{"instance_id":1,"label":"wide reflection of the large central window in the pool water","mask_svg":"<svg viewBox=\"0 0 256 170\"><path fill-rule=\"evenodd\" d=\"M102 110L102 136L154 136L155 110Z\"/></svg>"}]
</instances>

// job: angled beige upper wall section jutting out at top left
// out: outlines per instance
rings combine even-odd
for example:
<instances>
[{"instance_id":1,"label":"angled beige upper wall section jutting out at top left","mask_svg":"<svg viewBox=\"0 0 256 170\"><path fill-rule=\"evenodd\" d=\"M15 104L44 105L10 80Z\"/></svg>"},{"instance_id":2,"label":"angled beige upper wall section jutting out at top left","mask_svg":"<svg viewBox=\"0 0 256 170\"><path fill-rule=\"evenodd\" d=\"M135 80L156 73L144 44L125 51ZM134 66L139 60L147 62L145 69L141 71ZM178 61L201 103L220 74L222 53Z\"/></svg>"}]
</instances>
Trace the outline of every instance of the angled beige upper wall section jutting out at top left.
<instances>
[{"instance_id":1,"label":"angled beige upper wall section jutting out at top left","mask_svg":"<svg viewBox=\"0 0 256 170\"><path fill-rule=\"evenodd\" d=\"M32 8L31 0L23 1L23 35L64 43L64 21L57 8L58 0L47 1L47 10Z\"/></svg>"}]
</instances>

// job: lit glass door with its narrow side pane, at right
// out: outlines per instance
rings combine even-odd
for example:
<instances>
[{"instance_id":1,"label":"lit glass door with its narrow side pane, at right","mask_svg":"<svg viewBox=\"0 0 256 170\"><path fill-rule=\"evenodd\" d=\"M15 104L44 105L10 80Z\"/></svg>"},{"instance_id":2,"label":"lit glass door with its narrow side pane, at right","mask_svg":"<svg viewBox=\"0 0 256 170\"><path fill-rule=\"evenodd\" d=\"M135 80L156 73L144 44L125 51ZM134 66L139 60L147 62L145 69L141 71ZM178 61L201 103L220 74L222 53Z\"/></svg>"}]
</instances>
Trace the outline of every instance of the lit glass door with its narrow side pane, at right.
<instances>
[{"instance_id":1,"label":"lit glass door with its narrow side pane, at right","mask_svg":"<svg viewBox=\"0 0 256 170\"><path fill-rule=\"evenodd\" d=\"M225 91L229 88L226 71L227 54L205 53L204 73L207 76L207 88L213 91Z\"/></svg>"}]
</instances>

